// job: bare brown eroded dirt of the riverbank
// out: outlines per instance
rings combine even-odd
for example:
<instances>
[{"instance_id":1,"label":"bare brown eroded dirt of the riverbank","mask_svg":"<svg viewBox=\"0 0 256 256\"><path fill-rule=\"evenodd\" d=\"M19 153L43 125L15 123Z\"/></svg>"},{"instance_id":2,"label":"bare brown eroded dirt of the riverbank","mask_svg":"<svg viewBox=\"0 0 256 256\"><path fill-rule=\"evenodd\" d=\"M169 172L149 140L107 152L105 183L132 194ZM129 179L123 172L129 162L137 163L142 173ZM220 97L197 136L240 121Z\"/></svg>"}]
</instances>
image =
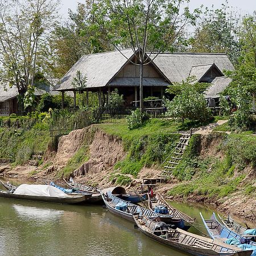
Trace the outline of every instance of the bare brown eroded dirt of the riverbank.
<instances>
[{"instance_id":1,"label":"bare brown eroded dirt of the riverbank","mask_svg":"<svg viewBox=\"0 0 256 256\"><path fill-rule=\"evenodd\" d=\"M223 152L219 150L222 142L222 135L201 135L200 144L196 150L201 159L214 157L222 160L225 157ZM69 135L61 137L57 148L48 147L44 156L44 163L40 167L33 166L30 163L16 167L11 167L7 163L1 163L0 174L5 177L30 179L40 183L49 180L62 182L61 170L69 164L70 160L82 147L86 148L86 154L89 160L87 159L81 163L75 171L71 172L71 176L76 177L76 180L81 183L97 185L101 188L113 185L115 180L110 179L110 177L113 174L114 165L118 161L125 159L127 153L123 148L121 139L106 134L97 125L75 130ZM209 167L208 172L210 173L211 171L211 167ZM117 172L118 170L115 170L115 173ZM139 186L143 177L155 177L159 173L160 171L156 167L144 167L139 172L137 179L134 179L131 175L127 176L133 179L132 185ZM248 196L243 193L243 186L246 185L248 179L255 179L255 173L254 168L248 165L243 170L244 177L238 185L236 192L221 199L209 197L208 195L197 195L196 192L187 196L185 199L180 196L172 196L171 199L214 204L222 212L232 213L238 217L256 221L254 215L254 209L256 208L255 196ZM234 170L234 176L240 174L240 171ZM182 181L182 183L185 182ZM177 179L171 179L167 184L159 184L158 190L167 196L167 192L180 183Z\"/></svg>"}]
</instances>

